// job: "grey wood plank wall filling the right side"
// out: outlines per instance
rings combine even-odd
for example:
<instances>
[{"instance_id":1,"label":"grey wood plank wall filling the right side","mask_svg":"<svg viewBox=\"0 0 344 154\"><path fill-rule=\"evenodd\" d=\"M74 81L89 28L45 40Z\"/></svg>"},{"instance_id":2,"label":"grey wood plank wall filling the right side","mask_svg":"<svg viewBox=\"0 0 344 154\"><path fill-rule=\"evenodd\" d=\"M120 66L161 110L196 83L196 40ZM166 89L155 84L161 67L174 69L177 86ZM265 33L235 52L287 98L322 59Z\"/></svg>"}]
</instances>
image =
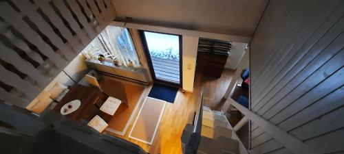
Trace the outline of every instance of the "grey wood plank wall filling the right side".
<instances>
[{"instance_id":1,"label":"grey wood plank wall filling the right side","mask_svg":"<svg viewBox=\"0 0 344 154\"><path fill-rule=\"evenodd\" d=\"M250 46L251 110L319 153L344 153L344 1L274 0ZM251 125L251 153L291 153Z\"/></svg>"}]
</instances>

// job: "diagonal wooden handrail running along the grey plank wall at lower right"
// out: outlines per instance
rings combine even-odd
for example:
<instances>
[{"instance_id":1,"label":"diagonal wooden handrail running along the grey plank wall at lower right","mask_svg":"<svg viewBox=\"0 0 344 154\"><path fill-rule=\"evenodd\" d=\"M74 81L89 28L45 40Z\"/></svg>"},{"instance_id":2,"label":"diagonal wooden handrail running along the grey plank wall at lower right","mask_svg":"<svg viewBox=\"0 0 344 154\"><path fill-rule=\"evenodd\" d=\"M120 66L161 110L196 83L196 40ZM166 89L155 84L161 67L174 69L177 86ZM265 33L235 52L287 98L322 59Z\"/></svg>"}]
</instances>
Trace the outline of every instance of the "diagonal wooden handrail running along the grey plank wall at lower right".
<instances>
[{"instance_id":1,"label":"diagonal wooden handrail running along the grey plank wall at lower right","mask_svg":"<svg viewBox=\"0 0 344 154\"><path fill-rule=\"evenodd\" d=\"M292 151L292 153L320 154L318 151L310 148L310 146L308 146L307 144L304 144L301 140L295 138L294 136L291 136L288 132L270 123L268 120L261 118L261 116L255 114L255 112L248 110L248 108L237 103L233 99L228 98L226 102L237 108L237 110L244 114L248 119L252 120L261 129L266 131L266 133L272 136L272 138L275 138L275 140L283 144L286 149Z\"/></svg>"}]
</instances>

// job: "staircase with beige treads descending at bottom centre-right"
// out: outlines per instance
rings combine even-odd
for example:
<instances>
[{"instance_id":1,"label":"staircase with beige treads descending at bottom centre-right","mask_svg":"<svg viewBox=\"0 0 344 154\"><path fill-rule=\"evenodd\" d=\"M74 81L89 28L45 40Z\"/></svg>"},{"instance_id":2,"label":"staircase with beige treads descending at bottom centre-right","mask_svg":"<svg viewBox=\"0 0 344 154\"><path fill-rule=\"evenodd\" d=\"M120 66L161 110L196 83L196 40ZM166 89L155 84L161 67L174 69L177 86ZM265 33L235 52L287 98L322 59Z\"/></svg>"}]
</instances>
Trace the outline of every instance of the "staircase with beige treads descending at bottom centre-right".
<instances>
[{"instance_id":1,"label":"staircase with beige treads descending at bottom centre-right","mask_svg":"<svg viewBox=\"0 0 344 154\"><path fill-rule=\"evenodd\" d=\"M222 112L203 107L202 132L197 153L247 154L233 127Z\"/></svg>"}]
</instances>

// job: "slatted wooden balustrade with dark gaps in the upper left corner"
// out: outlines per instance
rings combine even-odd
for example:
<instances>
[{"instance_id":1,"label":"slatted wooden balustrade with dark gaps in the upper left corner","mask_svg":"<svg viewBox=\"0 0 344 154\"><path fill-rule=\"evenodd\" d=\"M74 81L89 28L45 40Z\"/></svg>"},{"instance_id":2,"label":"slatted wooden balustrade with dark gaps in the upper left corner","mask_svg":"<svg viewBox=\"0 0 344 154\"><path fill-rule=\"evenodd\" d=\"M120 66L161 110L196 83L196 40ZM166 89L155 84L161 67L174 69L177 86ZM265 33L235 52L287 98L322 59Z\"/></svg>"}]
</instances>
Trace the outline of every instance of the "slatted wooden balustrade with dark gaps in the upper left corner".
<instances>
[{"instance_id":1,"label":"slatted wooden balustrade with dark gaps in the upper left corner","mask_svg":"<svg viewBox=\"0 0 344 154\"><path fill-rule=\"evenodd\" d=\"M111 0L0 1L0 102L28 105L115 17Z\"/></svg>"}]
</instances>

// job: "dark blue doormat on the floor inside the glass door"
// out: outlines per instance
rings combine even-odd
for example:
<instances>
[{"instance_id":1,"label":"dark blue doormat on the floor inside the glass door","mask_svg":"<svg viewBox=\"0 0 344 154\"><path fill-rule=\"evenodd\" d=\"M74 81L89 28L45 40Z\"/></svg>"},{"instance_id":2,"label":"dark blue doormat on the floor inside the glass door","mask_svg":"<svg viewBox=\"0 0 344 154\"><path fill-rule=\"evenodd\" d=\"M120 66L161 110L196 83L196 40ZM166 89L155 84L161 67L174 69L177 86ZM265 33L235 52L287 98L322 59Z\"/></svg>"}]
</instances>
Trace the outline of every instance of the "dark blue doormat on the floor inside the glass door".
<instances>
[{"instance_id":1,"label":"dark blue doormat on the floor inside the glass door","mask_svg":"<svg viewBox=\"0 0 344 154\"><path fill-rule=\"evenodd\" d=\"M151 92L149 92L148 97L153 97L155 99L160 99L163 101L167 101L169 103L174 103L177 92L178 88L155 83L153 84L153 87L151 88Z\"/></svg>"}]
</instances>

